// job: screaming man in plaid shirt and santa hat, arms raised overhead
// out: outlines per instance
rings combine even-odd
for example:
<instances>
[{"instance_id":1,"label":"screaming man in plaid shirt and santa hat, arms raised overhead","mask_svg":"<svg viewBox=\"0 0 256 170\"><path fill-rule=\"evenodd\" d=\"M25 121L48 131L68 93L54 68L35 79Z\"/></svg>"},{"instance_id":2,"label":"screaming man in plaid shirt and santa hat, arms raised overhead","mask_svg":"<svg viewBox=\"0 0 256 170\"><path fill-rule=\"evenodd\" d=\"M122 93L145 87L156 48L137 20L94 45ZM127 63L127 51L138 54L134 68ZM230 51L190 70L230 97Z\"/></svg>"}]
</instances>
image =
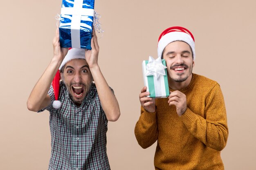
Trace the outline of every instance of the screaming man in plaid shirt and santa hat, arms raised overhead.
<instances>
[{"instance_id":1,"label":"screaming man in plaid shirt and santa hat, arms raised overhead","mask_svg":"<svg viewBox=\"0 0 256 170\"><path fill-rule=\"evenodd\" d=\"M107 124L119 118L120 110L98 65L95 31L92 50L61 48L58 29L53 46L54 57L27 101L29 110L46 109L50 113L52 152L48 169L110 170L106 152ZM55 83L51 85L58 69L62 79L59 90ZM54 94L58 93L55 98Z\"/></svg>"}]
</instances>

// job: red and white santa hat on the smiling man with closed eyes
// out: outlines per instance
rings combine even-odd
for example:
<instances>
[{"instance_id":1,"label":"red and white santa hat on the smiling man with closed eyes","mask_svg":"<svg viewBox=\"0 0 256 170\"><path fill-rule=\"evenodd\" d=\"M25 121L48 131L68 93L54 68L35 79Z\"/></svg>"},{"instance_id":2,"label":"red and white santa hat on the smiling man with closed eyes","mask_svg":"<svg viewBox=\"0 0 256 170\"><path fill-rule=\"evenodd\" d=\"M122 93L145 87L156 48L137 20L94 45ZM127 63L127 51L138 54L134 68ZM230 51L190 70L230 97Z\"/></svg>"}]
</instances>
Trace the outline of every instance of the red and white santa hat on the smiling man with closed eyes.
<instances>
[{"instance_id":1,"label":"red and white santa hat on the smiling man with closed eyes","mask_svg":"<svg viewBox=\"0 0 256 170\"><path fill-rule=\"evenodd\" d=\"M162 57L164 48L174 41L184 41L192 49L193 60L195 60L195 39L192 33L181 26L173 26L164 30L158 38L157 54Z\"/></svg>"}]
</instances>

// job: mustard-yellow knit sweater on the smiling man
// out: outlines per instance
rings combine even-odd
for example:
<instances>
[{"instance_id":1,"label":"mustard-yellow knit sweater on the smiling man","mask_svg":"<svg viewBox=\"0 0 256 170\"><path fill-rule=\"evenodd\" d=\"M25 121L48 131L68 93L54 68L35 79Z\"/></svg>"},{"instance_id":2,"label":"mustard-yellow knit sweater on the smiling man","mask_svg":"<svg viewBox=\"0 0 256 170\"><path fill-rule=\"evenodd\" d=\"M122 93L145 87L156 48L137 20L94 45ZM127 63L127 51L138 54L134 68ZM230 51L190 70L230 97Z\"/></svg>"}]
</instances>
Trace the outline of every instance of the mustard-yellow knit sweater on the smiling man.
<instances>
[{"instance_id":1,"label":"mustard-yellow knit sweater on the smiling man","mask_svg":"<svg viewBox=\"0 0 256 170\"><path fill-rule=\"evenodd\" d=\"M139 145L148 148L157 141L156 170L224 170L220 151L227 144L228 127L219 84L193 74L189 86L180 91L187 100L180 117L168 98L156 99L155 113L141 107L135 126Z\"/></svg>"}]
</instances>

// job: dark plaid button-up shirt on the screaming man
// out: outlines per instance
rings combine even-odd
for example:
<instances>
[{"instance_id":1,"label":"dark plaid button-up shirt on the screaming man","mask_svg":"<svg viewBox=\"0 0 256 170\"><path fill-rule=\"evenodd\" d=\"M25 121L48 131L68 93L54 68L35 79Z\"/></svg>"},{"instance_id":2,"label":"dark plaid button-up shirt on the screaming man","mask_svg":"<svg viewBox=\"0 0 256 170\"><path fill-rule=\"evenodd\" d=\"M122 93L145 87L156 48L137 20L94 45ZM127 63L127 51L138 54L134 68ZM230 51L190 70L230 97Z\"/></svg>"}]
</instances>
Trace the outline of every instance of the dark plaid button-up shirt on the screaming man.
<instances>
[{"instance_id":1,"label":"dark plaid button-up shirt on the screaming man","mask_svg":"<svg viewBox=\"0 0 256 170\"><path fill-rule=\"evenodd\" d=\"M52 152L48 170L110 170L106 152L108 120L95 84L79 108L70 99L63 82L58 99L61 108L52 107L52 86L48 94L51 104L38 111L46 109L50 112Z\"/></svg>"}]
</instances>

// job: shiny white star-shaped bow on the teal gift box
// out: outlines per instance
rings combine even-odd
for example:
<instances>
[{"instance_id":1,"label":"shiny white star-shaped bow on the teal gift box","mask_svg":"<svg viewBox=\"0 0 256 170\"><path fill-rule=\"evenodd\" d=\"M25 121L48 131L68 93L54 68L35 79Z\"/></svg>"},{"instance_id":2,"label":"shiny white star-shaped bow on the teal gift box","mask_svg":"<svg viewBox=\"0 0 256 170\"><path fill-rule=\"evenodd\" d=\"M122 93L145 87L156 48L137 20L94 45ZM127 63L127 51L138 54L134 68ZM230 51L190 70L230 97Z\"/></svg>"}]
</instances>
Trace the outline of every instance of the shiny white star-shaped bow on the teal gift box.
<instances>
[{"instance_id":1,"label":"shiny white star-shaped bow on the teal gift box","mask_svg":"<svg viewBox=\"0 0 256 170\"><path fill-rule=\"evenodd\" d=\"M161 57L158 57L156 60L149 56L148 57L148 64L146 65L146 76L153 75L157 79L159 78L160 75L165 75L165 68L164 64L162 64Z\"/></svg>"}]
</instances>

